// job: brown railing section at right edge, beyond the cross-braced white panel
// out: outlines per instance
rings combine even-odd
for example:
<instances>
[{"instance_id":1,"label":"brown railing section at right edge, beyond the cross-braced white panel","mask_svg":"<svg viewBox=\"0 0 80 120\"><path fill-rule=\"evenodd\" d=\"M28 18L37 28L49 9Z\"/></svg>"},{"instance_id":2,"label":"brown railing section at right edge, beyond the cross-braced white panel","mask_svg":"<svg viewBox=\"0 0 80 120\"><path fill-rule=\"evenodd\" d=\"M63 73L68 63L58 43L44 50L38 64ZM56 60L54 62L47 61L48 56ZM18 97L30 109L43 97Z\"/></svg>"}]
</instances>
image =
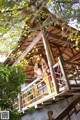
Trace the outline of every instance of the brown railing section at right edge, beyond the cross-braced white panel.
<instances>
[{"instance_id":1,"label":"brown railing section at right edge, beyond the cross-braced white panel","mask_svg":"<svg viewBox=\"0 0 80 120\"><path fill-rule=\"evenodd\" d=\"M70 89L80 89L80 65L77 63L64 62L64 66Z\"/></svg>"}]
</instances>

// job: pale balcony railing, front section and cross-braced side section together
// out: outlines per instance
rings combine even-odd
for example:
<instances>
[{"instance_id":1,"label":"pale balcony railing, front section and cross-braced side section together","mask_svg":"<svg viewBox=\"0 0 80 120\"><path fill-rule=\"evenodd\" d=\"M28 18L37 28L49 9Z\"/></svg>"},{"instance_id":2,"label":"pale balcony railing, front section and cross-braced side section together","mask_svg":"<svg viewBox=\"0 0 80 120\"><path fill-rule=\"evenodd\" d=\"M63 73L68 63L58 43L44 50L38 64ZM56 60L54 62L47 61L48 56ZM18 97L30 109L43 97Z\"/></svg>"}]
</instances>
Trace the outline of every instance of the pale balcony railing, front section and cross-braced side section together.
<instances>
[{"instance_id":1,"label":"pale balcony railing, front section and cross-braced side section together","mask_svg":"<svg viewBox=\"0 0 80 120\"><path fill-rule=\"evenodd\" d=\"M62 62L60 58L58 59L58 62L53 66L53 69L55 79L57 81L58 94L62 94L63 92L72 88L73 84L71 84L71 77L74 81L74 76L75 78L78 77L77 80L80 81L80 76L78 74L78 72L80 71L78 69L75 69L73 76L70 76L70 71L72 71L71 68L68 67L68 63L65 64L65 62ZM49 69L47 71L49 71ZM53 82L54 80L50 80L50 74L48 75L47 79L48 82L46 84L46 77L45 79L43 79L43 77L37 78L21 90L21 94L19 94L18 96L18 102L16 102L16 104L14 105L18 105L18 111L25 111L29 107L33 106L35 106L36 108L38 104L41 104L51 98L55 99L55 96L57 96L58 94L56 94L55 92ZM77 80L75 81L76 87L78 85Z\"/></svg>"}]
</instances>

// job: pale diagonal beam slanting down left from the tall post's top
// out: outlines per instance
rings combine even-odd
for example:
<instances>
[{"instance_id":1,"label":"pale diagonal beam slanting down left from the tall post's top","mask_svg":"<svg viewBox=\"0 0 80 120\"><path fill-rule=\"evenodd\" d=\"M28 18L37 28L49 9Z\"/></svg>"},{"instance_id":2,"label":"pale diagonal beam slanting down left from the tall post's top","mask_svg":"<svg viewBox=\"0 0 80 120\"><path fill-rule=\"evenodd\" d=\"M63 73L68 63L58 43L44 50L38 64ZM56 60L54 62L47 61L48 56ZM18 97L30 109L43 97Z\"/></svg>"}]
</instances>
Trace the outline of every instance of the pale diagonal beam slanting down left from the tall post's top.
<instances>
[{"instance_id":1,"label":"pale diagonal beam slanting down left from the tall post's top","mask_svg":"<svg viewBox=\"0 0 80 120\"><path fill-rule=\"evenodd\" d=\"M31 44L24 50L24 52L18 57L18 59L14 62L13 66L16 65L22 57L25 57L29 51L36 45L36 43L40 40L42 33L40 32L37 37L31 42Z\"/></svg>"}]
</instances>

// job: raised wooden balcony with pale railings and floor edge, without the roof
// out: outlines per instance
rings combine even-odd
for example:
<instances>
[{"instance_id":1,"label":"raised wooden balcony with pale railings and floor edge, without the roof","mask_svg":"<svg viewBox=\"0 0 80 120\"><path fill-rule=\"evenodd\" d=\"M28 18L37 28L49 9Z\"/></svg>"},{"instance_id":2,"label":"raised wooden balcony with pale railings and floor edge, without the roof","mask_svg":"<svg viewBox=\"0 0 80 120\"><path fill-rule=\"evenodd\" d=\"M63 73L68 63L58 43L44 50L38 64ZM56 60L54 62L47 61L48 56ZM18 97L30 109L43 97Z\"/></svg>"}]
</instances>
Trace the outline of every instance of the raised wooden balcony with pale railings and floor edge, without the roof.
<instances>
[{"instance_id":1,"label":"raised wooden balcony with pale railings and floor edge, without the roof","mask_svg":"<svg viewBox=\"0 0 80 120\"><path fill-rule=\"evenodd\" d=\"M53 80L49 81L49 86L42 77L37 78L21 90L16 102L17 105L14 105L19 112L24 112L30 107L42 108L45 105L64 99L66 96L79 94L80 67L78 64L66 63L58 59L58 62L53 65L53 71L58 93L55 91ZM49 75L48 78L50 77Z\"/></svg>"}]
</instances>

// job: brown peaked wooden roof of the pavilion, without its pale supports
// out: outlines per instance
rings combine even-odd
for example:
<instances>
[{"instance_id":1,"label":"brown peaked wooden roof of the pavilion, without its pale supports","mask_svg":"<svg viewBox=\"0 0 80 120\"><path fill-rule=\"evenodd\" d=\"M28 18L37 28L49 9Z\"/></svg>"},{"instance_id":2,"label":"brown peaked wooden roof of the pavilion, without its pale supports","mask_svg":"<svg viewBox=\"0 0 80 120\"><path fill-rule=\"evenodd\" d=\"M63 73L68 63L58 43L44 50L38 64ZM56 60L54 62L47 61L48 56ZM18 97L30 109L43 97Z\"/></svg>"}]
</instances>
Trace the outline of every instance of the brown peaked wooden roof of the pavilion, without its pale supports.
<instances>
[{"instance_id":1,"label":"brown peaked wooden roof of the pavilion, without its pale supports","mask_svg":"<svg viewBox=\"0 0 80 120\"><path fill-rule=\"evenodd\" d=\"M59 56L61 56L66 61L80 63L80 51L75 50L75 48L73 48L73 42L68 40L70 32L74 29L62 23L48 10L44 8L43 10L47 12L46 18L43 18L42 21L39 21L36 24L35 18L32 23L32 31L30 32L24 28L24 31L19 40L20 47L15 49L13 54L16 54L19 50L23 52L39 35L41 24L45 23L47 18L49 18L49 20L53 20L54 22L53 24L48 25L47 28L44 29L44 32L46 39L49 41L49 45L53 54L53 64L57 62ZM56 25L55 21L57 23ZM36 47L33 47L33 49L28 52L27 55L25 55L25 58L29 61L29 66L27 66L25 69L29 78L33 78L34 59L32 60L32 57L35 55L46 56L42 38L40 38L40 40L37 42ZM8 58L5 63L12 65L15 61L16 59L10 60L10 58Z\"/></svg>"}]
</instances>

